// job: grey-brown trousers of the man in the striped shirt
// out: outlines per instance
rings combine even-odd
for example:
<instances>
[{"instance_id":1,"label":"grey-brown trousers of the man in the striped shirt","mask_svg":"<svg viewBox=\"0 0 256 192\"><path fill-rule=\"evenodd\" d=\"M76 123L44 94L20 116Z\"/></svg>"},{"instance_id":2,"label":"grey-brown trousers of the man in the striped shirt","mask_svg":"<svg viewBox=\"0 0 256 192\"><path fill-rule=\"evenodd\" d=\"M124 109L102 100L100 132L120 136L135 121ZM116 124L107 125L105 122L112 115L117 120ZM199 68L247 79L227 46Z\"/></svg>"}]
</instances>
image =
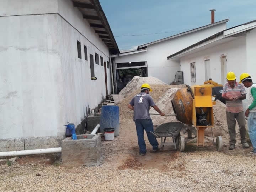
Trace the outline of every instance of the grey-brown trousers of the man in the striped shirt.
<instances>
[{"instance_id":1,"label":"grey-brown trousers of the man in the striped shirt","mask_svg":"<svg viewBox=\"0 0 256 192\"><path fill-rule=\"evenodd\" d=\"M230 137L230 145L235 145L236 144L236 131L235 131L235 124L236 121L238 122L239 126L239 131L241 135L241 143L245 143L245 134L246 134L246 129L245 129L245 116L244 116L244 111L240 113L230 113L226 111L226 119L228 123L228 129L229 129L229 137ZM236 120L236 121L235 121Z\"/></svg>"}]
</instances>

